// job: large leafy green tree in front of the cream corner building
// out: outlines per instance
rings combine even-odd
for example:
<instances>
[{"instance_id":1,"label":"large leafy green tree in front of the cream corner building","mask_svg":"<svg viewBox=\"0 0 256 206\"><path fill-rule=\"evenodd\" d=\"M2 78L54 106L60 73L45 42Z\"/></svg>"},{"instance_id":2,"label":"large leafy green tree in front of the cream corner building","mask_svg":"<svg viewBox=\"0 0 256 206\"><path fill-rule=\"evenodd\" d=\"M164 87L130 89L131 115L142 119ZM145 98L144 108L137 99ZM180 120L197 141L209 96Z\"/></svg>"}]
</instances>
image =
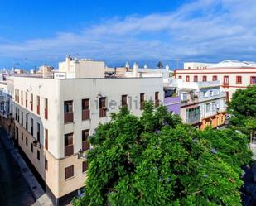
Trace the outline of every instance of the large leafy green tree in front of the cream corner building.
<instances>
[{"instance_id":1,"label":"large leafy green tree in front of the cream corner building","mask_svg":"<svg viewBox=\"0 0 256 206\"><path fill-rule=\"evenodd\" d=\"M250 152L232 130L200 132L146 103L142 117L113 114L90 143L85 195L74 205L240 205Z\"/></svg>"}]
</instances>

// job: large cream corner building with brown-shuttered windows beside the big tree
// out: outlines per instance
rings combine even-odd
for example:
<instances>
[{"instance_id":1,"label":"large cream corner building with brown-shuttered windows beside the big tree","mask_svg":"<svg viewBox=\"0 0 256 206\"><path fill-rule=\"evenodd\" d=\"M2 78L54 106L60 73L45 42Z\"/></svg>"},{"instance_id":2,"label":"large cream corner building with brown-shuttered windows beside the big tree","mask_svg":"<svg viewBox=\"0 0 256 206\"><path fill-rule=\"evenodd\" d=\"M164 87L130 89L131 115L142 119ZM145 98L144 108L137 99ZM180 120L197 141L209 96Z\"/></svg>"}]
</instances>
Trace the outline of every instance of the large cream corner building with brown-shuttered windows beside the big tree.
<instances>
[{"instance_id":1,"label":"large cream corner building with brown-shuttered windows beside the big tree","mask_svg":"<svg viewBox=\"0 0 256 206\"><path fill-rule=\"evenodd\" d=\"M46 183L55 205L77 194L86 178L88 138L110 114L163 100L160 77L105 78L104 62L68 57L51 75L13 76L17 144Z\"/></svg>"}]
</instances>

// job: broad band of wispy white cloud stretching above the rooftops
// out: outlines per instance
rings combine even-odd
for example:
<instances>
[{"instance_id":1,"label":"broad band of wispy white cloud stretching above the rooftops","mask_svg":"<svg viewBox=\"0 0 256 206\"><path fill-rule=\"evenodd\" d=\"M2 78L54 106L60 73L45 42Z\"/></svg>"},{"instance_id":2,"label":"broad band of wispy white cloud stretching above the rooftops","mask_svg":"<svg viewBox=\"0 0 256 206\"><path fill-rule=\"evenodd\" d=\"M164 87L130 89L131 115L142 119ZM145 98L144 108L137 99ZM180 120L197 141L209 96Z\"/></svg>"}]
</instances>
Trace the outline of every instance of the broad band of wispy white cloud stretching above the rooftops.
<instances>
[{"instance_id":1,"label":"broad band of wispy white cloud stretching above the rooftops","mask_svg":"<svg viewBox=\"0 0 256 206\"><path fill-rule=\"evenodd\" d=\"M114 18L80 32L0 43L2 57L60 60L67 54L125 60L255 60L256 2L198 0L171 13Z\"/></svg>"}]
</instances>

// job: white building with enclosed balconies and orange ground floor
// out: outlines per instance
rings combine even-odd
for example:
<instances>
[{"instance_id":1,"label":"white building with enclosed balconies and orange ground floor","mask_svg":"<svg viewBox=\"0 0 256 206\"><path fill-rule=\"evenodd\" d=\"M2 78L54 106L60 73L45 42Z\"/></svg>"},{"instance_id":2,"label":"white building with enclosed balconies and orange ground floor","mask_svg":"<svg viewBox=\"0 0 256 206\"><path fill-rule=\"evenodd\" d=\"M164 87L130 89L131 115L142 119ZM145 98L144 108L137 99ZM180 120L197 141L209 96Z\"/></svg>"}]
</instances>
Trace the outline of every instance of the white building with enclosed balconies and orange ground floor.
<instances>
[{"instance_id":1,"label":"white building with enclosed balconies and orange ground floor","mask_svg":"<svg viewBox=\"0 0 256 206\"><path fill-rule=\"evenodd\" d=\"M181 95L181 118L200 129L219 127L225 123L225 92L220 81L184 82L176 81Z\"/></svg>"}]
</instances>

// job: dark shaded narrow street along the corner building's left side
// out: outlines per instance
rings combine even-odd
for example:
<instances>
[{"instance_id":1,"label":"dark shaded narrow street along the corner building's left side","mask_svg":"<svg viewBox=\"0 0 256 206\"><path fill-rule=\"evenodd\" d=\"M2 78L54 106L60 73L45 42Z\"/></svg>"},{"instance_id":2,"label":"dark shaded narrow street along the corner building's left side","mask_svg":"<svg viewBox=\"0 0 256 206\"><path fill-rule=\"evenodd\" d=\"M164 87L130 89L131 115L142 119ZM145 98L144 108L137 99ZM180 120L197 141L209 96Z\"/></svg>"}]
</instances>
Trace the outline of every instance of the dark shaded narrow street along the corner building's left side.
<instances>
[{"instance_id":1,"label":"dark shaded narrow street along the corner building's left side","mask_svg":"<svg viewBox=\"0 0 256 206\"><path fill-rule=\"evenodd\" d=\"M1 129L0 136L6 136ZM28 206L34 203L19 168L0 141L0 205Z\"/></svg>"}]
</instances>

